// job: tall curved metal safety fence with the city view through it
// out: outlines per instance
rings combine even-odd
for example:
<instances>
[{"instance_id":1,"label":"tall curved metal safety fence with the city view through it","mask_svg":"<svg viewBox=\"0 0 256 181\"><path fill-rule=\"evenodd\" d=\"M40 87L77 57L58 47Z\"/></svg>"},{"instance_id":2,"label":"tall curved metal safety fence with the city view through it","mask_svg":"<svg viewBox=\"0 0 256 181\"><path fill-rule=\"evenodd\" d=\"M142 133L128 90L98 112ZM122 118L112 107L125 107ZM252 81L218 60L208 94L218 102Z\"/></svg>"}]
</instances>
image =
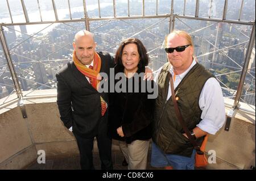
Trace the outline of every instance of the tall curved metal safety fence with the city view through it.
<instances>
[{"instance_id":1,"label":"tall curved metal safety fence with the city view through it","mask_svg":"<svg viewBox=\"0 0 256 181\"><path fill-rule=\"evenodd\" d=\"M164 37L179 29L191 34L197 60L233 107L243 102L255 113L254 1L7 0L0 10L0 106L56 89L55 74L72 60L79 30L93 32L96 49L112 55L123 39L141 39L157 70L167 62Z\"/></svg>"}]
</instances>

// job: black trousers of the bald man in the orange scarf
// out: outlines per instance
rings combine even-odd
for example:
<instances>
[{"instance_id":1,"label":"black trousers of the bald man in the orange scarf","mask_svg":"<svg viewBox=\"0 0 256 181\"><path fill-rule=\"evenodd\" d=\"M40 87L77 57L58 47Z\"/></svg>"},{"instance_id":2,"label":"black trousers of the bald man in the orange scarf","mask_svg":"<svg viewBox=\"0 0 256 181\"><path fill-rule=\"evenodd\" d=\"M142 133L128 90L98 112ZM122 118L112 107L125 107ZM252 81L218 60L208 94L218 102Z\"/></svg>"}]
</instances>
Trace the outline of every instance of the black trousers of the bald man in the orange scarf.
<instances>
[{"instance_id":1,"label":"black trousers of the bald man in the orange scarf","mask_svg":"<svg viewBox=\"0 0 256 181\"><path fill-rule=\"evenodd\" d=\"M101 169L102 170L112 170L112 140L104 134L105 132L100 132L96 136L98 151L101 159ZM93 140L94 137L84 138L76 133L74 133L77 141L77 145L80 151L80 164L82 170L94 170L93 166Z\"/></svg>"}]
</instances>

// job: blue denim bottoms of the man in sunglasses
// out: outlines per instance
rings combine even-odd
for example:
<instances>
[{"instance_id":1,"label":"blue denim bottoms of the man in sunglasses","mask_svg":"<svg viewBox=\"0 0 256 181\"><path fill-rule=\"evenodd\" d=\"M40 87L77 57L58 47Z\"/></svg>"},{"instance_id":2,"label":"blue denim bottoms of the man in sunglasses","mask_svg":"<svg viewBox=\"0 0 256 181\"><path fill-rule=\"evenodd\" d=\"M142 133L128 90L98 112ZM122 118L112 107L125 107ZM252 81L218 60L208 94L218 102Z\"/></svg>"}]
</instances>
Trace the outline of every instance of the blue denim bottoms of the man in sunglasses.
<instances>
[{"instance_id":1,"label":"blue denim bottoms of the man in sunglasses","mask_svg":"<svg viewBox=\"0 0 256 181\"><path fill-rule=\"evenodd\" d=\"M164 152L158 146L156 146L154 142L152 142L151 166L172 166L175 170L194 170L195 154L196 150L193 150L191 157L184 157L175 154L164 154Z\"/></svg>"}]
</instances>

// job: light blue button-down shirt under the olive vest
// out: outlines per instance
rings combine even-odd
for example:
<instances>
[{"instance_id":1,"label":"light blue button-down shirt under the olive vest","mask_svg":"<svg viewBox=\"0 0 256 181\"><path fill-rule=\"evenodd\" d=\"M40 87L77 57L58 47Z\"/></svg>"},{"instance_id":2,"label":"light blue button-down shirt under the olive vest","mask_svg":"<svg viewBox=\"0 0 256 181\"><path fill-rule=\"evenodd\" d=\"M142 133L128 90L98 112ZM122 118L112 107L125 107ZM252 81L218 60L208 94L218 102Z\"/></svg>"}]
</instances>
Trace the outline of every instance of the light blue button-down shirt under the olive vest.
<instances>
[{"instance_id":1,"label":"light blue button-down shirt under the olive vest","mask_svg":"<svg viewBox=\"0 0 256 181\"><path fill-rule=\"evenodd\" d=\"M175 75L174 89L179 85L188 71L196 64L196 61L193 60L191 66L189 66L186 71L184 71L182 74ZM162 68L156 71L156 76L154 79L156 83L158 82L158 76ZM172 67L170 69L170 73L174 75L174 69ZM172 92L169 82L167 100L170 99L171 95ZM205 82L199 98L199 107L202 110L202 120L196 126L205 132L215 134L224 125L226 115L221 86L216 78L209 78L207 82Z\"/></svg>"}]
</instances>

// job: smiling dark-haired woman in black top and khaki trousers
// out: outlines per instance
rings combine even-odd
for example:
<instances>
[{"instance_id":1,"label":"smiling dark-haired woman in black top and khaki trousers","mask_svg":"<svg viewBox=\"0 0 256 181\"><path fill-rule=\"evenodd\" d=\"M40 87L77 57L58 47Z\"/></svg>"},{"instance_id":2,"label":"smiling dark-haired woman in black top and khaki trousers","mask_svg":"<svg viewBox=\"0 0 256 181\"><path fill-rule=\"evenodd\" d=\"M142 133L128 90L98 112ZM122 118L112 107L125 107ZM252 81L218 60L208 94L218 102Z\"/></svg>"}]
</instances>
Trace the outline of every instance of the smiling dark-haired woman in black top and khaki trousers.
<instances>
[{"instance_id":1,"label":"smiling dark-haired woman in black top and khaki trousers","mask_svg":"<svg viewBox=\"0 0 256 181\"><path fill-rule=\"evenodd\" d=\"M119 140L129 170L146 169L155 103L155 99L148 99L152 92L147 91L147 84L152 87L154 81L143 81L147 50L138 39L124 40L115 53L115 63L115 91L109 94L109 133Z\"/></svg>"}]
</instances>

